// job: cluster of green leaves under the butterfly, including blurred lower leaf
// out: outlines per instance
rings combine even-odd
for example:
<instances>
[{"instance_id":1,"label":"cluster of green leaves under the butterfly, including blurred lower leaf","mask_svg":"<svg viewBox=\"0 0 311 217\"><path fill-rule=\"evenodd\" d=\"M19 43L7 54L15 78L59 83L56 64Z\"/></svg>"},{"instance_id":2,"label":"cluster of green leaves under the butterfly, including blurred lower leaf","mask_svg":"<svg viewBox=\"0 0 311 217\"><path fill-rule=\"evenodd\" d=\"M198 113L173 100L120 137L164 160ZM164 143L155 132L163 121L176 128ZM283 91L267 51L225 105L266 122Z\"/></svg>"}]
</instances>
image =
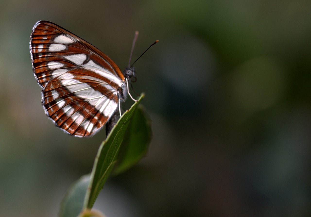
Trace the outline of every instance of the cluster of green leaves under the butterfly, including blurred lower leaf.
<instances>
[{"instance_id":1,"label":"cluster of green leaves under the butterfly, including blurred lower leaf","mask_svg":"<svg viewBox=\"0 0 311 217\"><path fill-rule=\"evenodd\" d=\"M61 204L60 217L76 217L82 210L92 208L118 160L121 163L118 164L117 171L122 172L137 163L140 159L139 156L142 157L146 154L151 139L151 127L150 119L146 119L144 109L138 107L143 97L142 94L138 101L122 115L106 140L102 142L91 174L81 177L69 188ZM133 129L133 127L137 127L137 129ZM137 148L135 144L137 144ZM121 148L123 145L126 148ZM118 155L119 150L123 150L123 155ZM88 180L88 184L86 184L86 180Z\"/></svg>"}]
</instances>

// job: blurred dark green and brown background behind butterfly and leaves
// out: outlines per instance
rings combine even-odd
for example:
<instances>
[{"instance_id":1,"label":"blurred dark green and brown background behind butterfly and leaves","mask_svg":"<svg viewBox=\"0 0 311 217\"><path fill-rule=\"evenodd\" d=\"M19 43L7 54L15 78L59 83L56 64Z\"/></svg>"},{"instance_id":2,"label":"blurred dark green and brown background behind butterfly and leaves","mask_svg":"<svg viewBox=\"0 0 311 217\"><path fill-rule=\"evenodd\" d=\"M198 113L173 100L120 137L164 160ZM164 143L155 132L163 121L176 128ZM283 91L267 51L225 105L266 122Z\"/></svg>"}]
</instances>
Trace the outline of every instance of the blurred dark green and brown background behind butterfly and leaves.
<instances>
[{"instance_id":1,"label":"blurred dark green and brown background behind butterfly and leaves","mask_svg":"<svg viewBox=\"0 0 311 217\"><path fill-rule=\"evenodd\" d=\"M107 217L311 215L311 1L0 1L0 216L55 217L104 130L44 114L29 37L48 20L127 66L153 121L146 158L111 178ZM129 108L129 99L123 108Z\"/></svg>"}]
</instances>

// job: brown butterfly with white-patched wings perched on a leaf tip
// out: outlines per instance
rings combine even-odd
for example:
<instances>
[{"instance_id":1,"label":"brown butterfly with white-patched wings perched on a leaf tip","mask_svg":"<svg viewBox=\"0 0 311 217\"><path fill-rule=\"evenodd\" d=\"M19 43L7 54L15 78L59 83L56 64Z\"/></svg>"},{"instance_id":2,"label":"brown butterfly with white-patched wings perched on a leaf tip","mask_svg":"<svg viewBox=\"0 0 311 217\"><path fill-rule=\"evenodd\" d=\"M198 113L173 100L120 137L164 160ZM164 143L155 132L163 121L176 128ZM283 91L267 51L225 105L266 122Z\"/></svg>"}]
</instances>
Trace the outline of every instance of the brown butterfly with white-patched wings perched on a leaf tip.
<instances>
[{"instance_id":1,"label":"brown butterfly with white-patched wings perched on a leaf tip","mask_svg":"<svg viewBox=\"0 0 311 217\"><path fill-rule=\"evenodd\" d=\"M70 135L94 135L118 108L121 116L120 100L137 101L128 89L136 81L134 67L122 73L98 48L55 23L35 24L30 55L44 112Z\"/></svg>"}]
</instances>

